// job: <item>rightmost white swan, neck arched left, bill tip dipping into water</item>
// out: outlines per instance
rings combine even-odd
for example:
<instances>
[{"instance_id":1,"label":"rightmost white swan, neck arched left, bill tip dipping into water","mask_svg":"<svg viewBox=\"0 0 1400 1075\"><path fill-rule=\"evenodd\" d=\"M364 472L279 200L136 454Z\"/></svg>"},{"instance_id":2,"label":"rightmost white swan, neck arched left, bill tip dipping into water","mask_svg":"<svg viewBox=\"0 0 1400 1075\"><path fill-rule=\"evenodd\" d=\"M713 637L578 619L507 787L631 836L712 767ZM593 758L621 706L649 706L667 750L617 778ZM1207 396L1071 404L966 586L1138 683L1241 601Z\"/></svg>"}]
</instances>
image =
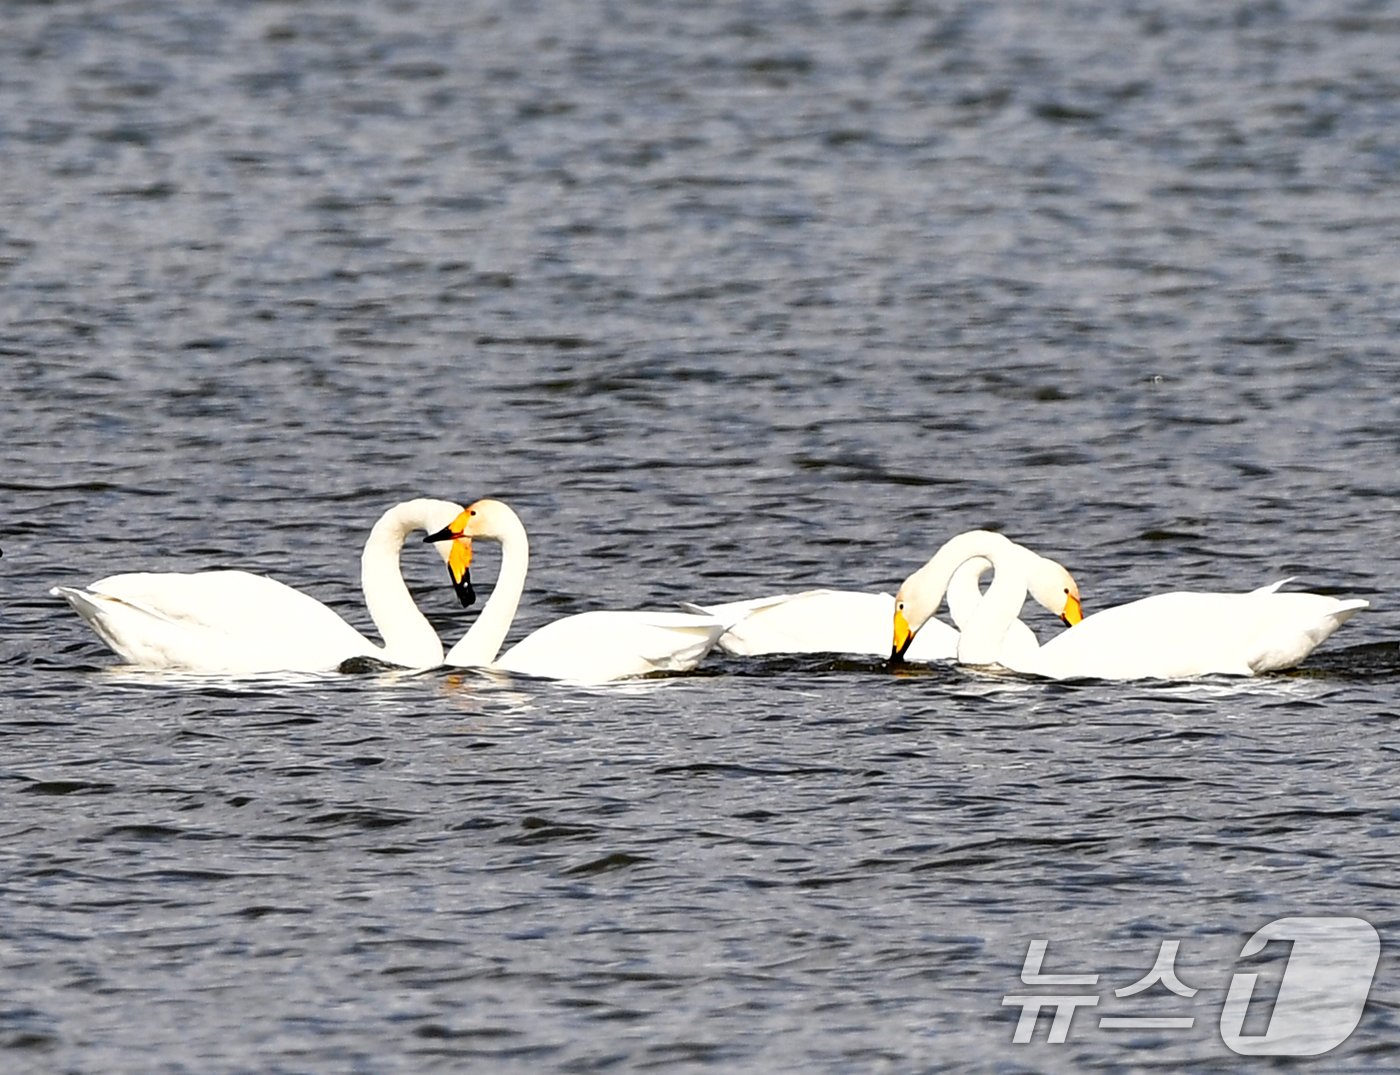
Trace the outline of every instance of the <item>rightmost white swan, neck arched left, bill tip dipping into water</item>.
<instances>
[{"instance_id":1,"label":"rightmost white swan, neck arched left, bill tip dipping into water","mask_svg":"<svg viewBox=\"0 0 1400 1075\"><path fill-rule=\"evenodd\" d=\"M963 628L958 661L1002 663L1051 679L1253 676L1292 668L1369 603L1281 593L1282 582L1247 593L1158 593L1088 616L1037 651L1002 661L998 633L1019 613L1025 585L1001 542L1005 539L984 531L959 535L904 579L895 595L892 658L909 648L910 638L937 612L953 570L969 556L987 557L997 574Z\"/></svg>"}]
</instances>

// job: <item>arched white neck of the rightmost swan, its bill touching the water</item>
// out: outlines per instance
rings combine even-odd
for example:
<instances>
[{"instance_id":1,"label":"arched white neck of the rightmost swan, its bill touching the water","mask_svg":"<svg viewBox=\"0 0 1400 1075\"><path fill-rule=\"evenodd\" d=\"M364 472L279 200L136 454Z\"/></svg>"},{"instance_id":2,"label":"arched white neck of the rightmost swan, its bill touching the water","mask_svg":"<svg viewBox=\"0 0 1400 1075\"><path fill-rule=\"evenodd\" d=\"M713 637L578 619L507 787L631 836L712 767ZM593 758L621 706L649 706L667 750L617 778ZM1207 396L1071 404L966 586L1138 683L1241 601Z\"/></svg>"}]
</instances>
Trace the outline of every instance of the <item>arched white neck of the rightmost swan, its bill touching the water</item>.
<instances>
[{"instance_id":1,"label":"arched white neck of the rightmost swan, its bill touching the water","mask_svg":"<svg viewBox=\"0 0 1400 1075\"><path fill-rule=\"evenodd\" d=\"M1002 640L1026 602L1025 554L1009 538L991 531L959 533L945 542L932 560L910 577L906 586L914 582L927 593L927 621L942 603L953 574L977 557L990 561L995 574L987 592L972 609L965 612L963 602L958 602L958 659L967 665L991 665L1001 655ZM981 570L974 565L970 579ZM976 582L972 585L976 589ZM923 621L910 626L917 631Z\"/></svg>"}]
</instances>

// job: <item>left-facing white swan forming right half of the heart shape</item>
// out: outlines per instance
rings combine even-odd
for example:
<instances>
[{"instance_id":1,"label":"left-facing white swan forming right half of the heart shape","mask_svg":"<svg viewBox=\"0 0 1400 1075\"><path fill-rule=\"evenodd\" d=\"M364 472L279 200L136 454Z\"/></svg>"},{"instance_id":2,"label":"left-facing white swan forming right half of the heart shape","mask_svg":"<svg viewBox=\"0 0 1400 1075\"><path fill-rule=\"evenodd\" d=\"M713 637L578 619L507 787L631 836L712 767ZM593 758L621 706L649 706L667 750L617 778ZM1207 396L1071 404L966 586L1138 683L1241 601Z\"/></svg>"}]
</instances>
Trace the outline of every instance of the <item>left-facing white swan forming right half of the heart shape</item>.
<instances>
[{"instance_id":1,"label":"left-facing white swan forming right half of the heart shape","mask_svg":"<svg viewBox=\"0 0 1400 1075\"><path fill-rule=\"evenodd\" d=\"M710 652L725 624L683 612L582 612L545 624L500 654L515 619L529 539L519 517L498 500L479 500L428 542L451 542L452 581L469 585L472 539L500 542L501 570L472 630L447 654L461 668L494 668L526 676L605 683L651 672L687 672ZM500 654L500 656L497 656Z\"/></svg>"}]
</instances>

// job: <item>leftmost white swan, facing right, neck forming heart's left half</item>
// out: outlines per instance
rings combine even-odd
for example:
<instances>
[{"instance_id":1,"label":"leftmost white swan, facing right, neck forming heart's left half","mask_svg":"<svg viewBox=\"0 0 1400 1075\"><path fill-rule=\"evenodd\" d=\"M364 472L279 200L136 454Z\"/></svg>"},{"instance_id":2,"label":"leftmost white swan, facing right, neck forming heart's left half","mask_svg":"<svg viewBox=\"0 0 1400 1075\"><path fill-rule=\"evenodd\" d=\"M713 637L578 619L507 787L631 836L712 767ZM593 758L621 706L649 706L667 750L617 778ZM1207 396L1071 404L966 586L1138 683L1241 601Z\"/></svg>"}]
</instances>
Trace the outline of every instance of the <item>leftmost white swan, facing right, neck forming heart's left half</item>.
<instances>
[{"instance_id":1,"label":"leftmost white swan, facing right, neck forming heart's left half","mask_svg":"<svg viewBox=\"0 0 1400 1075\"><path fill-rule=\"evenodd\" d=\"M445 500L410 500L389 508L370 531L360 578L382 647L315 598L248 571L134 572L49 592L66 599L118 655L143 668L326 672L351 656L434 668L442 663L442 641L403 582L399 550L413 531L435 531L461 511ZM438 553L444 560L461 556L448 546ZM468 603L468 589L458 588L458 596Z\"/></svg>"}]
</instances>

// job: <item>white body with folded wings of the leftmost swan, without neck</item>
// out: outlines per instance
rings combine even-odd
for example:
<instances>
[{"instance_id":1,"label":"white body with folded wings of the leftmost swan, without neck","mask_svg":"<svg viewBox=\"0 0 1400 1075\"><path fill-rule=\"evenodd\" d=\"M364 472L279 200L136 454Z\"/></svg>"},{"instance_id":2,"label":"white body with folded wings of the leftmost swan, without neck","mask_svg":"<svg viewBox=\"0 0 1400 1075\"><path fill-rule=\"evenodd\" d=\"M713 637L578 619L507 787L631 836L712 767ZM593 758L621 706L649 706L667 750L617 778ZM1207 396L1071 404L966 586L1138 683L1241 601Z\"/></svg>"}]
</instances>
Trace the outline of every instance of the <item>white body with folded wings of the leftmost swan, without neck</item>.
<instances>
[{"instance_id":1,"label":"white body with folded wings of the leftmost swan, without neck","mask_svg":"<svg viewBox=\"0 0 1400 1075\"><path fill-rule=\"evenodd\" d=\"M143 668L319 672L377 651L315 598L248 571L133 572L49 592Z\"/></svg>"}]
</instances>

